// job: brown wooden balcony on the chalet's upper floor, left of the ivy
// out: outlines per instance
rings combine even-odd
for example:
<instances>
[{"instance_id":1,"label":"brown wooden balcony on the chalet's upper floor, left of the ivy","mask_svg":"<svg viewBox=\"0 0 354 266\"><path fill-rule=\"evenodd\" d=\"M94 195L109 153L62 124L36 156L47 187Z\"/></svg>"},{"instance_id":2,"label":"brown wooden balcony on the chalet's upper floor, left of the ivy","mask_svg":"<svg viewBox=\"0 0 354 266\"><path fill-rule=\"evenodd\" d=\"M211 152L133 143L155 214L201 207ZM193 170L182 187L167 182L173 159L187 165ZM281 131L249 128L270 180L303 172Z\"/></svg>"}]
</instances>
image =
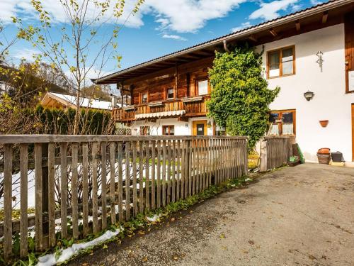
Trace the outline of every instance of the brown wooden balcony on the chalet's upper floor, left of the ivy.
<instances>
[{"instance_id":1,"label":"brown wooden balcony on the chalet's upper floor, left of the ivy","mask_svg":"<svg viewBox=\"0 0 354 266\"><path fill-rule=\"evenodd\" d=\"M115 121L121 122L144 119L137 118L136 116L147 113L152 113L154 115L153 118L205 116L207 113L206 102L208 99L210 99L209 95L157 101L148 104L125 106L122 109L113 109L112 113ZM176 114L173 114L173 112L176 112ZM183 112L183 114L181 114L181 112Z\"/></svg>"}]
</instances>

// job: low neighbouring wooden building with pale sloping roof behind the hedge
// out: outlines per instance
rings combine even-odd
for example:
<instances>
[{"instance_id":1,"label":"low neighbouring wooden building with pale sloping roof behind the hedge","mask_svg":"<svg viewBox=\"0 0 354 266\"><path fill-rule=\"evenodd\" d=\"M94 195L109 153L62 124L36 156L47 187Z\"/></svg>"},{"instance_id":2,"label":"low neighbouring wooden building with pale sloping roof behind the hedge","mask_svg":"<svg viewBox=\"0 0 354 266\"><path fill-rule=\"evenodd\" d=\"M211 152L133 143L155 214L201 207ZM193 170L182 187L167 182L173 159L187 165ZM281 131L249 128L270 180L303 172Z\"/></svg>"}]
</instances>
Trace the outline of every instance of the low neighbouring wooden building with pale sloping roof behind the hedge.
<instances>
[{"instance_id":1,"label":"low neighbouring wooden building with pale sloping roof behind the hedge","mask_svg":"<svg viewBox=\"0 0 354 266\"><path fill-rule=\"evenodd\" d=\"M41 104L47 107L67 106L76 108L76 96L47 92L42 98ZM85 97L80 97L80 107L103 110L112 109L110 101L101 101L99 99L90 99Z\"/></svg>"}]
</instances>

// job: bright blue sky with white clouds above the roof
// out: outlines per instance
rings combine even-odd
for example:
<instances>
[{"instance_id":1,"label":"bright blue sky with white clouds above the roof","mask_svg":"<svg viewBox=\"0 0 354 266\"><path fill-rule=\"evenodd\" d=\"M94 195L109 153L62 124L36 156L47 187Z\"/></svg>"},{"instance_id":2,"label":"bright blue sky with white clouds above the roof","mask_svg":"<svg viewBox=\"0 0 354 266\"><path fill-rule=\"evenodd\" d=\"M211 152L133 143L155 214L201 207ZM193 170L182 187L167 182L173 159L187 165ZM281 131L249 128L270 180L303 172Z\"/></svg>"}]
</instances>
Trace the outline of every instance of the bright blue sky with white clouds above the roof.
<instances>
[{"instance_id":1,"label":"bright blue sky with white clouds above the roof","mask_svg":"<svg viewBox=\"0 0 354 266\"><path fill-rule=\"evenodd\" d=\"M80 1L80 0L79 0ZM100 28L104 36L120 25L117 52L122 56L120 68L115 60L108 60L101 76L122 70L132 65L166 55L176 50L239 31L242 28L268 21L287 13L321 4L318 0L146 0L139 11L132 16L136 0L126 0L125 11L118 20L107 17ZM38 23L30 0L0 0L0 18L6 26L0 41L16 34L12 18L21 18L23 23ZM52 21L55 35L67 23L59 0L42 0L42 5ZM93 6L90 12L95 14ZM108 11L109 13L109 11ZM91 48L92 55L99 49L99 41ZM20 41L11 48L12 60L26 58L31 60L38 52L29 43ZM72 55L69 54L69 57ZM98 71L90 72L96 78Z\"/></svg>"}]
</instances>

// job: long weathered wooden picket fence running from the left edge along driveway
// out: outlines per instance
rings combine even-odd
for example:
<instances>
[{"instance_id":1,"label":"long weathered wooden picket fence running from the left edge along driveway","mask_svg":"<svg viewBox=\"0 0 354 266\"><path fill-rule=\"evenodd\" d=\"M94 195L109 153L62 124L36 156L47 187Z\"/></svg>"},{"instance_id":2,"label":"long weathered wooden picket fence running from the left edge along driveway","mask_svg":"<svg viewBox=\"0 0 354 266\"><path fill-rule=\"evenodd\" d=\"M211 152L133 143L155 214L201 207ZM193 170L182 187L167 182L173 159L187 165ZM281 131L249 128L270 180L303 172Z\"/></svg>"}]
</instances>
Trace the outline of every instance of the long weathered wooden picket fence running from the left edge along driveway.
<instances>
[{"instance_id":1,"label":"long weathered wooden picket fence running from the left edge along driveway","mask_svg":"<svg viewBox=\"0 0 354 266\"><path fill-rule=\"evenodd\" d=\"M4 257L13 235L28 253L60 238L84 238L110 223L202 192L247 173L245 137L1 135L4 173ZM28 216L28 170L34 170L35 215ZM21 219L11 211L13 174L21 175ZM59 228L57 226L59 220ZM57 227L56 227L57 226ZM57 234L57 235L56 235Z\"/></svg>"}]
</instances>

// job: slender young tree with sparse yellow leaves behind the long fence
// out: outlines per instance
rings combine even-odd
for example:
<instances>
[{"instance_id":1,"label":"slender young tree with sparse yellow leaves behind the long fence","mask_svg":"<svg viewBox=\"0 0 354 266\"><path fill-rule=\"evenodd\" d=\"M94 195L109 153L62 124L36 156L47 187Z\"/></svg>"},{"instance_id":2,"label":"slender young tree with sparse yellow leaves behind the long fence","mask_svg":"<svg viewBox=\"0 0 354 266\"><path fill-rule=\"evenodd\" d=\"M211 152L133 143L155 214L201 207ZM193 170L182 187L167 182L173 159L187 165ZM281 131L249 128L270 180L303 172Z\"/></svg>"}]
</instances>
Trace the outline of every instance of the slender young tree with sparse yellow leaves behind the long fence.
<instances>
[{"instance_id":1,"label":"slender young tree with sparse yellow leaves behind the long fence","mask_svg":"<svg viewBox=\"0 0 354 266\"><path fill-rule=\"evenodd\" d=\"M118 18L123 14L125 1L58 1L67 20L64 27L56 29L42 3L33 0L31 3L38 13L40 26L23 27L20 24L18 36L35 45L41 52L38 58L59 71L70 89L76 92L76 108L79 109L81 90L87 87L89 74L95 70L97 77L101 77L108 60L116 60L119 66L121 56L117 52L117 41L122 26L118 26ZM125 21L137 13L143 2L136 1ZM92 13L92 9L96 12ZM110 32L104 28L107 23L113 25ZM76 112L73 134L85 133L85 128L79 125L80 121L85 121L81 115L81 112Z\"/></svg>"}]
</instances>

